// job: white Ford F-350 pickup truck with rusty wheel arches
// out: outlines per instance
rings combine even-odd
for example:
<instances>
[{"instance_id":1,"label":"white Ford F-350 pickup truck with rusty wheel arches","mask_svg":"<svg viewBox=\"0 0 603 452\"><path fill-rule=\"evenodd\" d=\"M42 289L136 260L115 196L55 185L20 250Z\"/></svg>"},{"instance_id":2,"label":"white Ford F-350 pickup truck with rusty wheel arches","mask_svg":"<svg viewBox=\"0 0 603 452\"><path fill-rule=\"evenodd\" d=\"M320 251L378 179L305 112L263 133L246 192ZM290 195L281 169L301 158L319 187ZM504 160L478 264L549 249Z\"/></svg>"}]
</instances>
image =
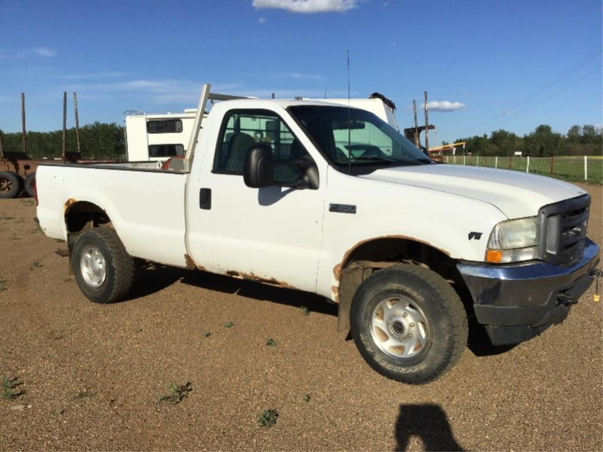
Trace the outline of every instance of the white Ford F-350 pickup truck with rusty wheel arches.
<instances>
[{"instance_id":1,"label":"white Ford F-350 pickup truck with rusty wheel arches","mask_svg":"<svg viewBox=\"0 0 603 452\"><path fill-rule=\"evenodd\" d=\"M39 166L37 221L67 240L89 300L127 298L134 258L315 292L405 383L458 361L468 318L495 345L526 341L600 273L584 190L434 163L358 108L219 102L184 159L151 164Z\"/></svg>"}]
</instances>

